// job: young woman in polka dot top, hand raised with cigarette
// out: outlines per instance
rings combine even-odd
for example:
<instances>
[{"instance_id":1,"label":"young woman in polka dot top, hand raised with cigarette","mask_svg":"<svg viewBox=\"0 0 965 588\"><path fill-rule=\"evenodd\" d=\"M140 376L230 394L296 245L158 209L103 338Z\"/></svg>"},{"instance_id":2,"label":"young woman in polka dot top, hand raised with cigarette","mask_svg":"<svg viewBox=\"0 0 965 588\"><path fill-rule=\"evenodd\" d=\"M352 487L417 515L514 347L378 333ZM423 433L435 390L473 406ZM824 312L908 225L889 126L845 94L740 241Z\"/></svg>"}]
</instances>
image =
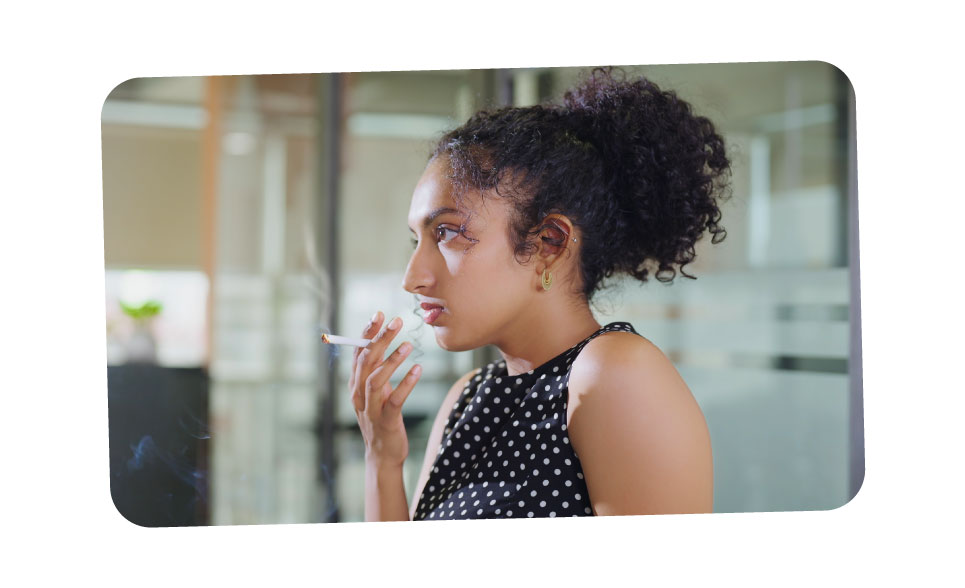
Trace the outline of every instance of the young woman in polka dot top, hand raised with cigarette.
<instances>
[{"instance_id":1,"label":"young woman in polka dot top, hand raised with cigarette","mask_svg":"<svg viewBox=\"0 0 965 588\"><path fill-rule=\"evenodd\" d=\"M402 404L412 349L376 313L349 387L366 448L366 519L710 512L710 437L674 366L628 323L601 326L605 278L672 280L716 243L729 162L706 118L646 79L595 70L562 105L477 113L412 195L403 286L449 351L502 360L446 395L407 504Z\"/></svg>"}]
</instances>

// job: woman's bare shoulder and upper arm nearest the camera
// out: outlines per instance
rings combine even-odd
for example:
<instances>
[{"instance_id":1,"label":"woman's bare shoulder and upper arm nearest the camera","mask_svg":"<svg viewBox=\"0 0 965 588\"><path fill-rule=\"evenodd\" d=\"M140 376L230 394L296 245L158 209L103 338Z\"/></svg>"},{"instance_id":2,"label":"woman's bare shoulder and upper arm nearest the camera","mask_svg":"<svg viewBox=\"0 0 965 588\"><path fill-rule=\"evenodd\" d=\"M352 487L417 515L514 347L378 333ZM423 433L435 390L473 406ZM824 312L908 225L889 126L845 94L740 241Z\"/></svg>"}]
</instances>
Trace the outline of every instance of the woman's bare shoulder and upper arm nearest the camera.
<instances>
[{"instance_id":1,"label":"woman's bare shoulder and upper arm nearest the camera","mask_svg":"<svg viewBox=\"0 0 965 588\"><path fill-rule=\"evenodd\" d=\"M713 510L703 413L673 364L630 333L590 341L573 362L567 422L598 515Z\"/></svg>"}]
</instances>

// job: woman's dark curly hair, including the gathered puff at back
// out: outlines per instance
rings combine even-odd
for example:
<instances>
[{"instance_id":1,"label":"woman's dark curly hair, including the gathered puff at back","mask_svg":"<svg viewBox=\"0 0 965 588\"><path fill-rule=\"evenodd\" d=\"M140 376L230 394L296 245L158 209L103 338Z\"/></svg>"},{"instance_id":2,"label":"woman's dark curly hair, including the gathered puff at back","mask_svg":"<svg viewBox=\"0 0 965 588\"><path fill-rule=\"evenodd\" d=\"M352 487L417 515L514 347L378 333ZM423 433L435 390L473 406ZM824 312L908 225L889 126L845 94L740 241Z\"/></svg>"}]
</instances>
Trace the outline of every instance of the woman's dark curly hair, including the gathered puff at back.
<instances>
[{"instance_id":1,"label":"woman's dark curly hair, including the gathered puff at back","mask_svg":"<svg viewBox=\"0 0 965 588\"><path fill-rule=\"evenodd\" d=\"M430 159L439 156L457 198L495 190L513 201L517 260L537 250L547 215L579 227L587 300L614 274L693 278L684 266L697 240L727 234L718 200L730 162L714 125L673 91L621 70L594 69L562 104L478 112L439 140Z\"/></svg>"}]
</instances>

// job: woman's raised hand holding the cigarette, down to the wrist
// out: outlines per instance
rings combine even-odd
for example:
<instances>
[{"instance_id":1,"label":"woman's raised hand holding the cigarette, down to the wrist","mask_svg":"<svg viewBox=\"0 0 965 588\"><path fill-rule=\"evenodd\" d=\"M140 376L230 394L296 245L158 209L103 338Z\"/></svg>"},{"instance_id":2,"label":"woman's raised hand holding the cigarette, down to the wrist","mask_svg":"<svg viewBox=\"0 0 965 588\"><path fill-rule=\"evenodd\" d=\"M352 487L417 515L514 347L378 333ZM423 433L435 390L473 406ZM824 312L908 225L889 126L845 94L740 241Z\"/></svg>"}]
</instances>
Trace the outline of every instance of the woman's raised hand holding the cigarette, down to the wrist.
<instances>
[{"instance_id":1,"label":"woman's raised hand holding the cigarette, down to the wrist","mask_svg":"<svg viewBox=\"0 0 965 588\"><path fill-rule=\"evenodd\" d=\"M412 366L399 385L392 388L389 378L412 351L412 344L405 342L385 357L389 344L402 328L402 319L392 319L380 331L383 320L382 312L377 312L362 331L362 340L369 342L355 350L349 389L365 441L366 461L378 468L402 467L409 455L402 404L419 380L422 367Z\"/></svg>"}]
</instances>

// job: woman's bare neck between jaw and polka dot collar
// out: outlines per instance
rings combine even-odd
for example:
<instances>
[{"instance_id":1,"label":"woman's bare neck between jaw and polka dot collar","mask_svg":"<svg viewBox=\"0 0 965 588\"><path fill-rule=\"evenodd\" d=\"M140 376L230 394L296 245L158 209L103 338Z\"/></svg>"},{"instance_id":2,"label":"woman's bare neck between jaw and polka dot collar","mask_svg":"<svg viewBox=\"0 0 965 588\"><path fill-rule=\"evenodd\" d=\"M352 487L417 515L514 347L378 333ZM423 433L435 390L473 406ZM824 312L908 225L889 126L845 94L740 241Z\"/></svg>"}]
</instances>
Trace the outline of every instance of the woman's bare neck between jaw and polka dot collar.
<instances>
[{"instance_id":1,"label":"woman's bare neck between jaw and polka dot collar","mask_svg":"<svg viewBox=\"0 0 965 588\"><path fill-rule=\"evenodd\" d=\"M553 298L530 306L533 310L527 310L527 316L515 321L495 342L510 376L543 365L599 330L600 323L588 304L574 307L571 301Z\"/></svg>"}]
</instances>

